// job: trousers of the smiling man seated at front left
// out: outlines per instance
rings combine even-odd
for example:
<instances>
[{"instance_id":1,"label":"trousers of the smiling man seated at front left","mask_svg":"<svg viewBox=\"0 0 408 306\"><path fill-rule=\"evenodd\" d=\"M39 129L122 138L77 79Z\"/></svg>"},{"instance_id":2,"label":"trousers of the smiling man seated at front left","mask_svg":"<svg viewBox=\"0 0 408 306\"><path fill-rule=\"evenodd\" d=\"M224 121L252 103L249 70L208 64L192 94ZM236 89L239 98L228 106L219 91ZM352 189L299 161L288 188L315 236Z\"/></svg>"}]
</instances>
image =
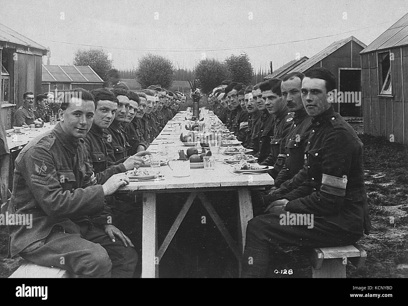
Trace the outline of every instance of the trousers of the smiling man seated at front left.
<instances>
[{"instance_id":1,"label":"trousers of the smiling man seated at front left","mask_svg":"<svg viewBox=\"0 0 408 306\"><path fill-rule=\"evenodd\" d=\"M129 278L137 264L137 253L120 239L111 242L102 228L80 225L80 233L51 232L29 245L20 256L42 266L57 266L92 278Z\"/></svg>"}]
</instances>

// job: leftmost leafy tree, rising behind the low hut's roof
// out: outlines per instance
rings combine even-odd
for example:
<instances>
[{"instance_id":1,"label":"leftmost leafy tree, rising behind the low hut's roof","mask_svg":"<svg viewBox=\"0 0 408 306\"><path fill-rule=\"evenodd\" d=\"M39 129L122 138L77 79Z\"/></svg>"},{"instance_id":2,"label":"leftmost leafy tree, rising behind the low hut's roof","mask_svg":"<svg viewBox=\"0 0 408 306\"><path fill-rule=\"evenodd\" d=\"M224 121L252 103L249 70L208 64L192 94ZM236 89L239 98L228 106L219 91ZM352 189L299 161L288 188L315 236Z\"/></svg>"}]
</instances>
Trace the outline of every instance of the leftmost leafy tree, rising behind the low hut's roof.
<instances>
[{"instance_id":1,"label":"leftmost leafy tree, rising behind the low hut's roof","mask_svg":"<svg viewBox=\"0 0 408 306\"><path fill-rule=\"evenodd\" d=\"M110 55L102 49L91 48L79 49L74 55L75 66L90 66L102 80L106 77L106 71L112 68Z\"/></svg>"}]
</instances>

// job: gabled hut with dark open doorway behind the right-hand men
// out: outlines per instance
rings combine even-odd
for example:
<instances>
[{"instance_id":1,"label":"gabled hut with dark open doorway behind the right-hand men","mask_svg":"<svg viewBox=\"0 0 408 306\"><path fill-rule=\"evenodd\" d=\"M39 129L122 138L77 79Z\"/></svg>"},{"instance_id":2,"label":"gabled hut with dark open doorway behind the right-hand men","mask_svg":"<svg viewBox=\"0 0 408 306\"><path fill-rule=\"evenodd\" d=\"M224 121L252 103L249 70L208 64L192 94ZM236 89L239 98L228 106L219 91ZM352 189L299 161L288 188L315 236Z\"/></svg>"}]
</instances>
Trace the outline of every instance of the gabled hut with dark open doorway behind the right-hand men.
<instances>
[{"instance_id":1,"label":"gabled hut with dark open doorway behind the right-hand men","mask_svg":"<svg viewBox=\"0 0 408 306\"><path fill-rule=\"evenodd\" d=\"M361 63L360 51L366 44L354 36L333 42L328 47L313 55L308 60L289 69L290 72L306 72L317 67L326 67L337 78L338 93L357 93L361 99ZM349 101L350 102L350 101ZM360 103L334 103L335 111L342 116L361 117Z\"/></svg>"}]
</instances>

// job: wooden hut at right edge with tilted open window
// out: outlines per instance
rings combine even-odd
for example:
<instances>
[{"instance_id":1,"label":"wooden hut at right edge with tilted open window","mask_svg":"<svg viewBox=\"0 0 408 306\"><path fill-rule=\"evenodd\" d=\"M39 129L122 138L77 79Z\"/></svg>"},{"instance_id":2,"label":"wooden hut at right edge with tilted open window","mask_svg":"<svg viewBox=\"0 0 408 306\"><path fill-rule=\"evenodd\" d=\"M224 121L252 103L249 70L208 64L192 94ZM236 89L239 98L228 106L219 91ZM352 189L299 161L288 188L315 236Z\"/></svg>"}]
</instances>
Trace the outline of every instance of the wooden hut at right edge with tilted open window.
<instances>
[{"instance_id":1,"label":"wooden hut at right edge with tilted open window","mask_svg":"<svg viewBox=\"0 0 408 306\"><path fill-rule=\"evenodd\" d=\"M408 144L408 13L360 55L364 133Z\"/></svg>"}]
</instances>

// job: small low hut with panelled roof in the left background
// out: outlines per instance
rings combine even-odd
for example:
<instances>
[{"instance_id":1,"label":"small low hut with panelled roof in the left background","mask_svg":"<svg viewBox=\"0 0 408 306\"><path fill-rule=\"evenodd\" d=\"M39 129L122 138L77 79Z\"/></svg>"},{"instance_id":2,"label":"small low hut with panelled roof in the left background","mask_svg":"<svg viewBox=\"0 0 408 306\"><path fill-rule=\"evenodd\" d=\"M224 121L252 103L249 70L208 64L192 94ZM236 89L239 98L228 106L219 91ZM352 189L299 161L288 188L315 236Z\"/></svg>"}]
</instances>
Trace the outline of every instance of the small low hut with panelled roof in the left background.
<instances>
[{"instance_id":1,"label":"small low hut with panelled roof in the left background","mask_svg":"<svg viewBox=\"0 0 408 306\"><path fill-rule=\"evenodd\" d=\"M89 91L102 88L103 83L89 66L42 65L41 91L51 91L55 97L76 87Z\"/></svg>"}]
</instances>

